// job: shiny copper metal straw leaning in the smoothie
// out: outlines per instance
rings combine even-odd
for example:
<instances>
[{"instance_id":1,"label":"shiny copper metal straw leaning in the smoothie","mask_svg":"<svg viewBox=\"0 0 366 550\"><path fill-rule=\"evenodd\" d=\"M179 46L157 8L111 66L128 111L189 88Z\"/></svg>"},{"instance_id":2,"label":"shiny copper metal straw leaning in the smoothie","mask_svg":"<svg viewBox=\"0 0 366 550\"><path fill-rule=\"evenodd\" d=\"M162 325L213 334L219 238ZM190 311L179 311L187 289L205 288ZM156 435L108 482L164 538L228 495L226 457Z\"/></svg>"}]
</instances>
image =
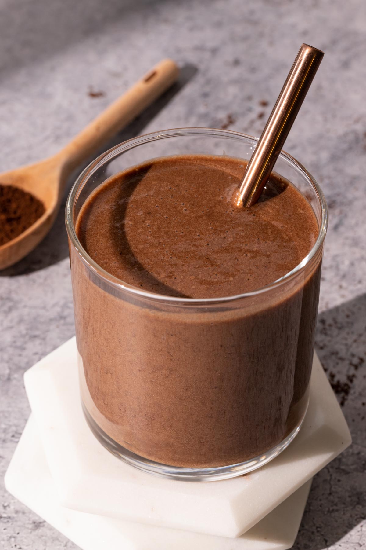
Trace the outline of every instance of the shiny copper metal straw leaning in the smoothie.
<instances>
[{"instance_id":1,"label":"shiny copper metal straw leaning in the smoothie","mask_svg":"<svg viewBox=\"0 0 366 550\"><path fill-rule=\"evenodd\" d=\"M259 199L323 56L317 48L301 46L233 197L235 206L252 206Z\"/></svg>"}]
</instances>

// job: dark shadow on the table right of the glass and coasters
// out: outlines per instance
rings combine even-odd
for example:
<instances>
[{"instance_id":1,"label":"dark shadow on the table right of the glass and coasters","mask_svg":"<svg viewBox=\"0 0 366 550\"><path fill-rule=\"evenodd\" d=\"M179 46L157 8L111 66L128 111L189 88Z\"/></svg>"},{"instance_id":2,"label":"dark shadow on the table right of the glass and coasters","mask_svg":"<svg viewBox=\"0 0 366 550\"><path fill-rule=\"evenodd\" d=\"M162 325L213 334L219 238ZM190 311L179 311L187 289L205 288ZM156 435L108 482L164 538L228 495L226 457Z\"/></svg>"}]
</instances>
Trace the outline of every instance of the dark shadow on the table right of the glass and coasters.
<instances>
[{"instance_id":1,"label":"dark shadow on the table right of the glass and coasters","mask_svg":"<svg viewBox=\"0 0 366 550\"><path fill-rule=\"evenodd\" d=\"M366 294L319 314L316 349L352 444L314 477L294 550L327 548L366 518Z\"/></svg>"}]
</instances>

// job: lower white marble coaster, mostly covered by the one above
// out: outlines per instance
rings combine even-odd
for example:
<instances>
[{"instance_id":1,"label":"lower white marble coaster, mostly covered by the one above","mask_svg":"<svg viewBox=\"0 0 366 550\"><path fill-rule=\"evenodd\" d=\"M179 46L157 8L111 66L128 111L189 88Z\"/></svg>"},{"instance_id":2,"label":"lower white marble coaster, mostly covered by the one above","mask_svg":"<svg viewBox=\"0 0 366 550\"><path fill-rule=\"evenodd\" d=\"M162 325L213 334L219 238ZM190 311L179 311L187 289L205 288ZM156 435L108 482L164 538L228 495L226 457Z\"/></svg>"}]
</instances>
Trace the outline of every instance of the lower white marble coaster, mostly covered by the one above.
<instances>
[{"instance_id":1,"label":"lower white marble coaster, mostly covered by the one above","mask_svg":"<svg viewBox=\"0 0 366 550\"><path fill-rule=\"evenodd\" d=\"M5 486L82 550L285 550L295 541L311 481L234 539L87 514L60 505L31 416L5 475Z\"/></svg>"}]
</instances>

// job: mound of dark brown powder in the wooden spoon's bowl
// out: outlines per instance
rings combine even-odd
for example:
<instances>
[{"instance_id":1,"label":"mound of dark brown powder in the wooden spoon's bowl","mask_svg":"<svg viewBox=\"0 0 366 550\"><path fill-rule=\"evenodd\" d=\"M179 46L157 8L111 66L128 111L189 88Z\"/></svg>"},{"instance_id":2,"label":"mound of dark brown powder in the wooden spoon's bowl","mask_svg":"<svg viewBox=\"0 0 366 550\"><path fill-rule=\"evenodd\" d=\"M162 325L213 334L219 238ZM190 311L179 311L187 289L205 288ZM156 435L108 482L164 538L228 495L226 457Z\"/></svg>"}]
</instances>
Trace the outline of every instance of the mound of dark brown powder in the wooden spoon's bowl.
<instances>
[{"instance_id":1,"label":"mound of dark brown powder in the wooden spoon's bowl","mask_svg":"<svg viewBox=\"0 0 366 550\"><path fill-rule=\"evenodd\" d=\"M44 205L35 196L0 184L0 246L15 239L44 213Z\"/></svg>"}]
</instances>

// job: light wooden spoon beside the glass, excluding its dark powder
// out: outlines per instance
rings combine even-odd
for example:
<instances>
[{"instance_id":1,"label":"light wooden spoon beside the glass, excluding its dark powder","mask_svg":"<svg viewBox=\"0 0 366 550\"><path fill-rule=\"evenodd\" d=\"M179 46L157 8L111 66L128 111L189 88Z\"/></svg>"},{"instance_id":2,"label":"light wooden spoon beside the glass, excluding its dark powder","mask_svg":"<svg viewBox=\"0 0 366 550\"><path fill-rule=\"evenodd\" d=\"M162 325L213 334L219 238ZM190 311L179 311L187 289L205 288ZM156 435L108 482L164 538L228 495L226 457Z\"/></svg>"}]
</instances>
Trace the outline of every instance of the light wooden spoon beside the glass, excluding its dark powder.
<instances>
[{"instance_id":1,"label":"light wooden spoon beside the glass, excluding its dark powder","mask_svg":"<svg viewBox=\"0 0 366 550\"><path fill-rule=\"evenodd\" d=\"M46 237L59 211L67 177L92 153L153 103L178 77L171 59L164 59L81 131L64 149L46 160L0 174L2 185L28 191L46 211L15 239L0 246L0 270L29 254Z\"/></svg>"}]
</instances>

